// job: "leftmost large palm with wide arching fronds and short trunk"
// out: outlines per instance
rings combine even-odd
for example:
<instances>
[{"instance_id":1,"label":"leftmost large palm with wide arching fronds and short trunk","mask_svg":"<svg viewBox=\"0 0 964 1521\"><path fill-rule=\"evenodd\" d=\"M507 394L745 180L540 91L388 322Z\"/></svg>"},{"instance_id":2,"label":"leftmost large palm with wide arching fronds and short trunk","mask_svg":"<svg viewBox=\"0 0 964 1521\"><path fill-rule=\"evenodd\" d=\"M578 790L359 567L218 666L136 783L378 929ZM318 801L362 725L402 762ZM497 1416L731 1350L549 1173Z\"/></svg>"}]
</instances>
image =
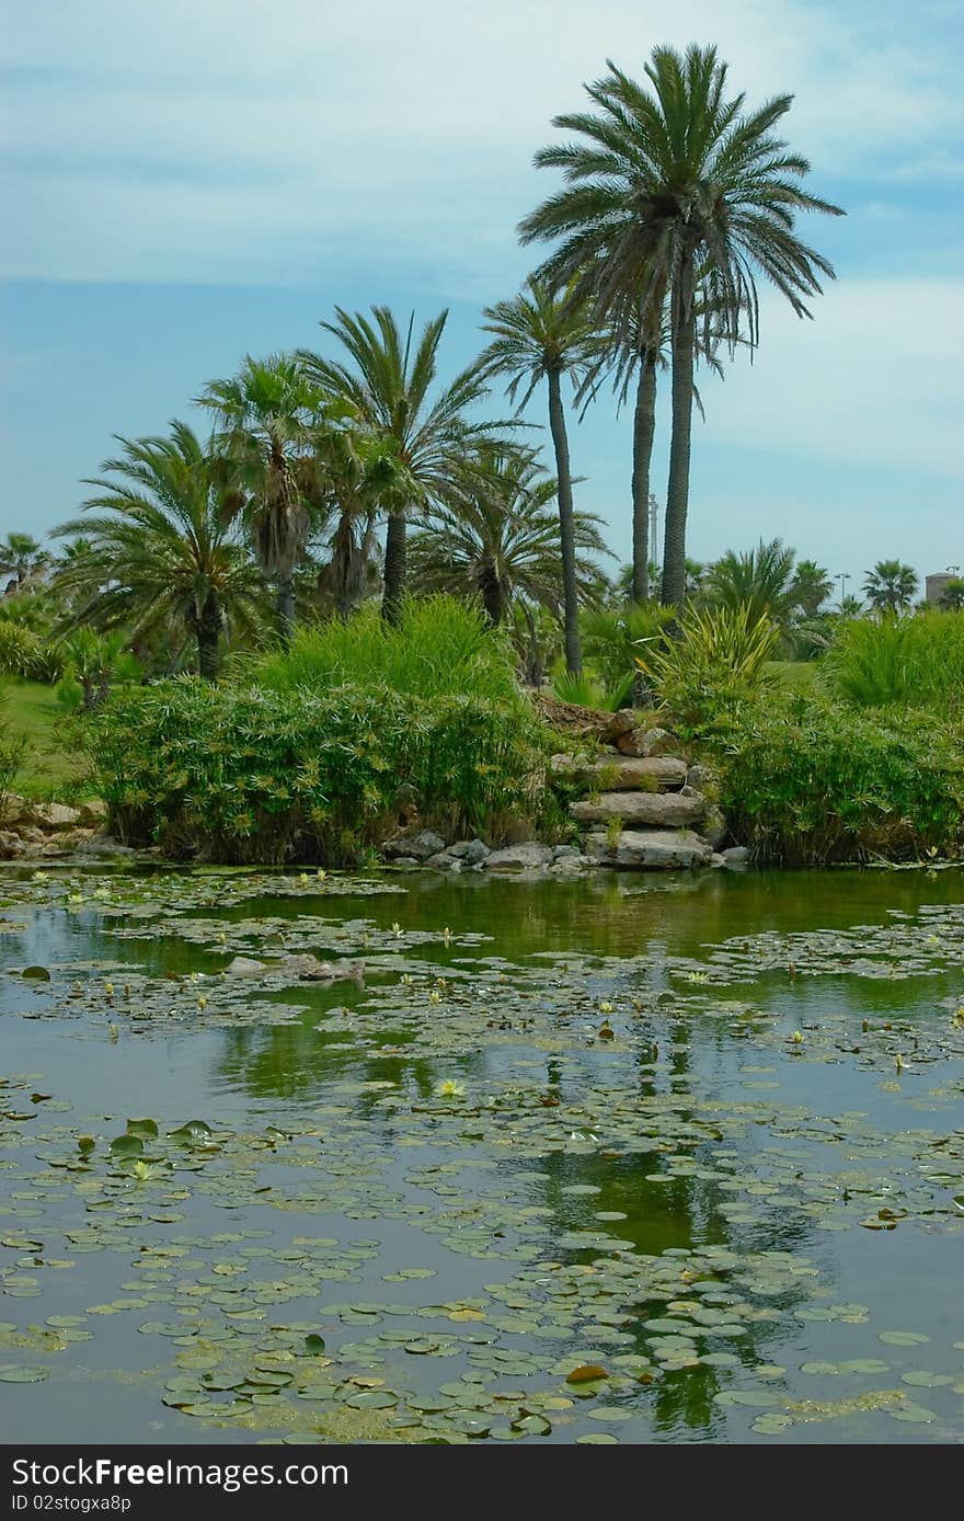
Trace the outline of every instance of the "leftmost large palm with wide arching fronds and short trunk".
<instances>
[{"instance_id":1,"label":"leftmost large palm with wide arching fronds and short trunk","mask_svg":"<svg viewBox=\"0 0 964 1521\"><path fill-rule=\"evenodd\" d=\"M58 589L70 598L64 631L93 624L129 628L137 640L179 625L198 642L201 675L217 675L228 621L257 627L262 586L233 529L225 526L216 462L187 423L170 438L119 438L122 455L105 459L99 494L84 503L91 517L56 528L56 538L84 540L81 554L58 561Z\"/></svg>"}]
</instances>

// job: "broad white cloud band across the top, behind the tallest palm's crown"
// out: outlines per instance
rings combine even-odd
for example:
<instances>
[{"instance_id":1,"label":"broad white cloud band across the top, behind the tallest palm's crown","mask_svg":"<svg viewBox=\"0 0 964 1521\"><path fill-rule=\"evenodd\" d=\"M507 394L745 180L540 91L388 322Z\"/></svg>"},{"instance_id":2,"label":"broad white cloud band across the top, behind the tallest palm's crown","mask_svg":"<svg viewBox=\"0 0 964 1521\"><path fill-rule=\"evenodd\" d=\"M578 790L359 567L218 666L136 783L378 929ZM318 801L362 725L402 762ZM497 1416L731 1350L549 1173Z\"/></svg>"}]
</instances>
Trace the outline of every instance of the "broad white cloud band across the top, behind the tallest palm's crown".
<instances>
[{"instance_id":1,"label":"broad white cloud band across the top, behind the tallest palm's crown","mask_svg":"<svg viewBox=\"0 0 964 1521\"><path fill-rule=\"evenodd\" d=\"M716 40L751 100L797 93L820 183L943 163L958 82L906 26L812 0L46 0L5 44L3 272L284 281L377 237L493 289L549 186L532 151L607 55Z\"/></svg>"}]
</instances>

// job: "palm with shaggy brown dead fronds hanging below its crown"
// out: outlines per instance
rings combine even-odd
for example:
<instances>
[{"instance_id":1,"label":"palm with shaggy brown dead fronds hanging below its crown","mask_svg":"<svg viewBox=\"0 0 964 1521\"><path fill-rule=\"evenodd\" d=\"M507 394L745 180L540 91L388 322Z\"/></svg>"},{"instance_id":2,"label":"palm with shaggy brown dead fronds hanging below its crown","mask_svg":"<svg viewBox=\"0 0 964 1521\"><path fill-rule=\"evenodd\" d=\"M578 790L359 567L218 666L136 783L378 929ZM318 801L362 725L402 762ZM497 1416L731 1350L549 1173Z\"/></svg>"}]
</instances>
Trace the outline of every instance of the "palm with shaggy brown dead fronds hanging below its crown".
<instances>
[{"instance_id":1,"label":"palm with shaggy brown dead fronds hanging below its crown","mask_svg":"<svg viewBox=\"0 0 964 1521\"><path fill-rule=\"evenodd\" d=\"M284 354L246 356L230 380L196 399L217 420L225 506L239 516L263 575L277 587L281 637L295 624L295 567L312 526L321 446L331 426L319 392Z\"/></svg>"}]
</instances>

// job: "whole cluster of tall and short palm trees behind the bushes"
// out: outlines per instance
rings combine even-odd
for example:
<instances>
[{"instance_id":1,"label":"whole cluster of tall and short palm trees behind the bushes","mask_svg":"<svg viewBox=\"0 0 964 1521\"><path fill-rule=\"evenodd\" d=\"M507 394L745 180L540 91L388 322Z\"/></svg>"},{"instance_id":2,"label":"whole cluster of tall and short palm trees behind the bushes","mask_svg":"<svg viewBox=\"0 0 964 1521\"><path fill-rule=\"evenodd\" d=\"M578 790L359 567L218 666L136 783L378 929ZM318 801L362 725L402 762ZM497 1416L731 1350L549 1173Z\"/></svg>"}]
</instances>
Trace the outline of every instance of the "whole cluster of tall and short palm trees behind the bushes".
<instances>
[{"instance_id":1,"label":"whole cluster of tall and short palm trees behind the bushes","mask_svg":"<svg viewBox=\"0 0 964 1521\"><path fill-rule=\"evenodd\" d=\"M178 622L211 675L225 628L260 616L258 576L287 637L313 567L318 596L342 616L379 584L389 622L414 586L468 589L493 622L515 604L529 619L549 608L578 674L579 607L604 546L573 503L564 385L579 414L604 383L620 406L634 395L629 590L643 604L664 367L658 583L664 604L683 604L696 365L721 368L757 344L760 280L809 316L833 271L798 239L797 218L839 208L804 190L809 164L778 135L791 96L748 110L713 47L657 47L643 82L610 64L587 94L587 110L555 119L566 138L537 154L563 172L520 225L546 257L518 295L485 309L479 359L442 383L444 312L417 333L383 306L338 307L321 324L333 357L248 357L202 389L208 441L182 421L164 438L119 440L85 514L56 531L73 546L58 575L78 621L135 634ZM520 417L543 382L552 475ZM511 415L493 420L480 408L496 383Z\"/></svg>"}]
</instances>

